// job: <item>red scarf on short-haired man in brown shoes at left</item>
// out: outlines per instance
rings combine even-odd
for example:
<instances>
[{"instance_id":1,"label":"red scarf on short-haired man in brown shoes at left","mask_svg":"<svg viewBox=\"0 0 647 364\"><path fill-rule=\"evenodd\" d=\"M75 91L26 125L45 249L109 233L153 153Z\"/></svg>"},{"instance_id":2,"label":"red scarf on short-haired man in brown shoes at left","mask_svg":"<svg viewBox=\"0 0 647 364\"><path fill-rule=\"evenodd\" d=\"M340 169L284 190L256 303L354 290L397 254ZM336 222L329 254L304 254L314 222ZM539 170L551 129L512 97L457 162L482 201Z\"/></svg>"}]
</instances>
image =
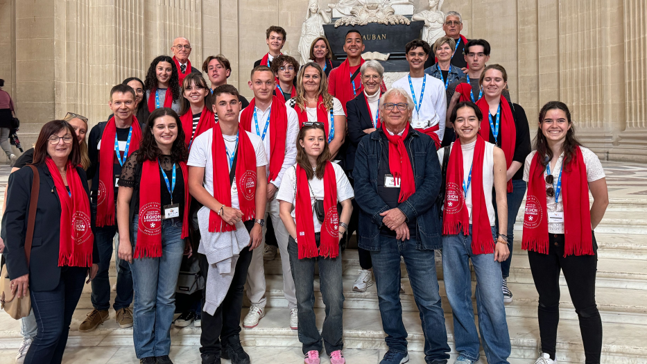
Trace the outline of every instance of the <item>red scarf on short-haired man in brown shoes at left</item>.
<instances>
[{"instance_id":1,"label":"red scarf on short-haired man in brown shoes at left","mask_svg":"<svg viewBox=\"0 0 647 364\"><path fill-rule=\"evenodd\" d=\"M141 141L141 128L134 115L130 127L132 136L130 137L130 146L128 146L128 156L139 149L139 141ZM114 125L114 116L112 116L103 130L101 148L99 149L99 185L96 190L96 226L98 227L114 225L114 173L112 167L115 157L115 137L117 137L117 127ZM123 150L120 153L123 153Z\"/></svg>"}]
</instances>

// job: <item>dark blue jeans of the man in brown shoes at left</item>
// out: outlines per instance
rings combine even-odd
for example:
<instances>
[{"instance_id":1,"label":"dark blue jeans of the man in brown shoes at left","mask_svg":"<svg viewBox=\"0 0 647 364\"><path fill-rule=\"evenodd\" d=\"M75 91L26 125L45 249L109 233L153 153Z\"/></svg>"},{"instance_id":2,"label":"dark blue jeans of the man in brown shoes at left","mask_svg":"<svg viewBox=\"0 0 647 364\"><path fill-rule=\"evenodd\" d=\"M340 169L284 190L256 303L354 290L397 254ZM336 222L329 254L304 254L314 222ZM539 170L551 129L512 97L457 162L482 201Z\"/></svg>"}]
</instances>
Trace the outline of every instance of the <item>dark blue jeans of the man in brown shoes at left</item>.
<instances>
[{"instance_id":1,"label":"dark blue jeans of the man in brown shoes at left","mask_svg":"<svg viewBox=\"0 0 647 364\"><path fill-rule=\"evenodd\" d=\"M96 203L90 205L92 211L92 233L99 251L99 269L96 277L92 279L92 306L100 311L110 309L110 279L108 270L112 259L112 240L117 234L117 225L96 227ZM114 311L125 309L132 303L132 274L127 261L119 261L117 267L117 297L114 298L112 307Z\"/></svg>"}]
</instances>

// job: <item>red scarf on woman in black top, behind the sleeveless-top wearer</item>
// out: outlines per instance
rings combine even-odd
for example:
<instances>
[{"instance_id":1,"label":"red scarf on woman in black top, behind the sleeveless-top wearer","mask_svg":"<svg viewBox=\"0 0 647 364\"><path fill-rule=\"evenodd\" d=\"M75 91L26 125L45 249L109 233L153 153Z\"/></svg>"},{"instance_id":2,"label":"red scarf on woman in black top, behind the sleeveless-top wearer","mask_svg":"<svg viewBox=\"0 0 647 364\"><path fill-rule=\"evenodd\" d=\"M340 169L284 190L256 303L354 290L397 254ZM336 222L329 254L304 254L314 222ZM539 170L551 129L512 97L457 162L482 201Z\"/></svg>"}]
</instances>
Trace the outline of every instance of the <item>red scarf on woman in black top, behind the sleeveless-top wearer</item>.
<instances>
[{"instance_id":1,"label":"red scarf on woman in black top, behind the sleeveless-top wearer","mask_svg":"<svg viewBox=\"0 0 647 364\"><path fill-rule=\"evenodd\" d=\"M485 116L490 115L490 105L488 105L488 101L485 101L485 97L476 101L476 105L483 112L483 123L485 123L485 128L481 123L481 137L485 140L490 140L490 121L485 118ZM501 105L499 140L501 141L503 154L506 155L506 168L510 168L512 157L515 155L515 145L517 144L517 125L515 125L515 118L512 116L512 110L510 110L510 104L503 95L501 95L499 105ZM492 121L497 122L494 118L492 118ZM510 192L512 192L512 180L508 181L508 193Z\"/></svg>"}]
</instances>

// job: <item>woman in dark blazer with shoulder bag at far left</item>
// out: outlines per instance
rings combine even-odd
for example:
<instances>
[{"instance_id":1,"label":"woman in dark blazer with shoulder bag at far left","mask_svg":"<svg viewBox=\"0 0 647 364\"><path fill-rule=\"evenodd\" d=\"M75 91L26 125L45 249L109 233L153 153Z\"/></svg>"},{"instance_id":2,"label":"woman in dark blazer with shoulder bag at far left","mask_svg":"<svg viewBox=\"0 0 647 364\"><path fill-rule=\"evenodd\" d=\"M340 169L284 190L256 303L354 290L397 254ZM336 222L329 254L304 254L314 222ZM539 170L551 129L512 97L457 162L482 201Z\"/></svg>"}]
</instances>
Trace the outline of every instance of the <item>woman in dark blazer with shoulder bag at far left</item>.
<instances>
[{"instance_id":1,"label":"woman in dark blazer with shoulder bag at far left","mask_svg":"<svg viewBox=\"0 0 647 364\"><path fill-rule=\"evenodd\" d=\"M2 218L7 269L18 297L29 291L38 331L24 363L61 363L72 314L83 281L98 269L98 252L89 225L87 177L80 164L74 129L67 121L43 125L34 164L40 190L31 257L24 243L33 170L9 177L7 209Z\"/></svg>"}]
</instances>

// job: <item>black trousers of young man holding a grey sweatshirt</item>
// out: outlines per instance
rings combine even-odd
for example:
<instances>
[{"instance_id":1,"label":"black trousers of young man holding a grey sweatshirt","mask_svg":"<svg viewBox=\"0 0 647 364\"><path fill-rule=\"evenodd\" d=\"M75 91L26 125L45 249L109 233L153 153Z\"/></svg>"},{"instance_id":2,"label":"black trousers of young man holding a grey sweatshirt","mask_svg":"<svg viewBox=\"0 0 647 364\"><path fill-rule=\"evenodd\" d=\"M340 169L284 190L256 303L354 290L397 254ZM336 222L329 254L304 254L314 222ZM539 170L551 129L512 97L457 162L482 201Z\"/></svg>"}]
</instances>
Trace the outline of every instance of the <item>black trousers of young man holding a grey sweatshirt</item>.
<instances>
[{"instance_id":1,"label":"black trousers of young man holding a grey sweatshirt","mask_svg":"<svg viewBox=\"0 0 647 364\"><path fill-rule=\"evenodd\" d=\"M254 227L254 220L245 222L245 227L248 232L251 231L252 227ZM209 262L205 255L199 254L198 256L200 257L200 271L206 281L207 272L209 272ZM218 306L214 315L209 315L209 313L202 311L200 353L220 356L222 350L221 341L225 345L236 342L240 343L243 286L245 286L245 281L247 281L247 270L250 268L251 261L252 252L250 252L249 247L246 247L241 250L238 261L236 261L236 270L234 270L232 285L229 291L227 291L223 303ZM206 288L204 291L206 291ZM205 306L205 295L202 295L202 306Z\"/></svg>"}]
</instances>

